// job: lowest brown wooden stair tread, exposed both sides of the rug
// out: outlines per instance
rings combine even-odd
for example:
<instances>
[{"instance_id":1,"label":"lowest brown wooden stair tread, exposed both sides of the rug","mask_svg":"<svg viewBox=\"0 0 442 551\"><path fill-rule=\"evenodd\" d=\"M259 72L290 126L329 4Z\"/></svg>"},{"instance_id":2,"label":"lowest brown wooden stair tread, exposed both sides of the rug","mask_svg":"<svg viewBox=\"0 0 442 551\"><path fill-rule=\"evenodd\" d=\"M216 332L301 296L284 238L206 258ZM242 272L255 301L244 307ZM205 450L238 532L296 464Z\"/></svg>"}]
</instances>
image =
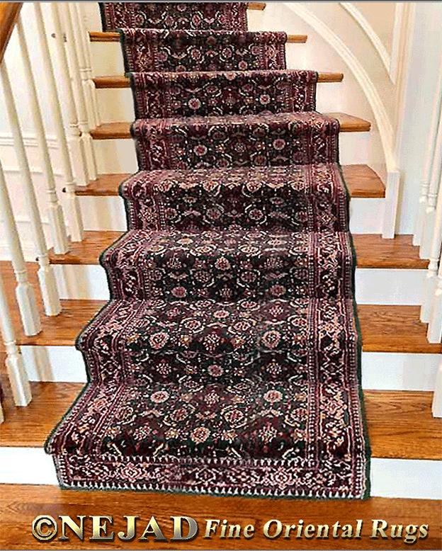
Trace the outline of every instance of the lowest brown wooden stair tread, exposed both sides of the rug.
<instances>
[{"instance_id":1,"label":"lowest brown wooden stair tread, exposed both sides of the rug","mask_svg":"<svg viewBox=\"0 0 442 551\"><path fill-rule=\"evenodd\" d=\"M32 382L28 407L4 405L0 445L41 447L79 394L82 383ZM364 392L374 458L441 460L442 420L431 415L432 392Z\"/></svg>"}]
</instances>

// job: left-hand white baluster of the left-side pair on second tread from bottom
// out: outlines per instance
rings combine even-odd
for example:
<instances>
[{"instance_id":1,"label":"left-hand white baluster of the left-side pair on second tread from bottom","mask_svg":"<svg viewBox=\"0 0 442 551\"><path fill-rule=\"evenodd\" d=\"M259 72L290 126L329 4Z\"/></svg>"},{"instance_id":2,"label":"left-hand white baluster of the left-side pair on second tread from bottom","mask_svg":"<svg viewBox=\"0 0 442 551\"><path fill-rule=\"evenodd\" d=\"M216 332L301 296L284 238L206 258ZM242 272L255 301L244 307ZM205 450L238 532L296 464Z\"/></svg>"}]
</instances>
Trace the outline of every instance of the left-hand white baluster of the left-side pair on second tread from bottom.
<instances>
[{"instance_id":1,"label":"left-hand white baluster of the left-side pair on second tread from bottom","mask_svg":"<svg viewBox=\"0 0 442 551\"><path fill-rule=\"evenodd\" d=\"M16 298L18 310L20 311L21 323L25 335L36 335L40 333L40 315L38 314L37 305L35 303L35 295L32 285L28 281L28 271L21 249L20 238L16 221L13 217L11 200L6 187L3 167L0 163L0 205L1 212L4 216L4 233L8 241L9 252L11 254L13 271L16 275Z\"/></svg>"}]
</instances>

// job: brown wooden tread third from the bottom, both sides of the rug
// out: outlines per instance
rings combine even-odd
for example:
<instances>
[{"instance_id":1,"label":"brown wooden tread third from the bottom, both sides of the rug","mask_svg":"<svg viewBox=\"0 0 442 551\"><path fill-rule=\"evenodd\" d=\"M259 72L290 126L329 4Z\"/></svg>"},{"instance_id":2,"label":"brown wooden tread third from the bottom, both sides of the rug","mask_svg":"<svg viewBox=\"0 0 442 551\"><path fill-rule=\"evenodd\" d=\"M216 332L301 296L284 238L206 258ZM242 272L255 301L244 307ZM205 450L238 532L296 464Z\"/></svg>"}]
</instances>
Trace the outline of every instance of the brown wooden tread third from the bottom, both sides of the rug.
<instances>
[{"instance_id":1,"label":"brown wooden tread third from the bottom, both sides of the rug","mask_svg":"<svg viewBox=\"0 0 442 551\"><path fill-rule=\"evenodd\" d=\"M66 254L55 254L50 249L52 264L98 264L101 252L110 246L123 232L88 231L82 242L71 243ZM419 259L418 247L413 246L411 235L397 235L394 239L382 239L378 234L354 234L353 244L359 268L421 268L428 261Z\"/></svg>"}]
</instances>

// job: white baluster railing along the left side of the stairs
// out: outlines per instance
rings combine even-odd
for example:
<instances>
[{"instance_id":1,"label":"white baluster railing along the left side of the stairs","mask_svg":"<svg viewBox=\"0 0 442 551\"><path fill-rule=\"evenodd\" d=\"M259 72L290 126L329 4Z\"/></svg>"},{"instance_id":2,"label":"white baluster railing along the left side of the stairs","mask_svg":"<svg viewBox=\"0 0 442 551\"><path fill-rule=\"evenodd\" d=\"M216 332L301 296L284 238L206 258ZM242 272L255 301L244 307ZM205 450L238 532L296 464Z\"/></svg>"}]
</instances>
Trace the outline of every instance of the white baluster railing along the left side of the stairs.
<instances>
[{"instance_id":1,"label":"white baluster railing along the left side of the stairs","mask_svg":"<svg viewBox=\"0 0 442 551\"><path fill-rule=\"evenodd\" d=\"M33 6L25 6L28 18L35 21L35 33L27 38L26 18L17 15L20 4L0 4L0 23L6 26L3 33L9 37L13 22L16 28L16 45L10 54L4 55L8 38L1 44L0 80L3 91L4 104L8 116L14 149L18 161L18 170L21 178L20 193L26 203L26 210L33 234L35 253L38 260L38 282L44 312L47 316L57 316L61 312L61 302L57 291L55 273L49 261L47 237L40 215L38 195L33 179L33 171L23 138L23 125L28 120L23 118L21 104L16 99L8 72L8 64L16 68L17 57L23 64L23 78L26 85L27 107L32 117L33 135L38 144L40 165L45 180L47 219L51 230L52 246L55 254L64 254L69 251L68 235L72 241L83 239L83 223L79 201L75 193L77 185L87 185L97 176L94 143L90 134L90 127L99 124L98 104L94 83L91 80L91 56L84 25L83 8L79 4L52 3L44 7L40 2ZM62 14L60 14L62 12ZM12 23L11 23L12 21ZM49 29L49 30L48 30ZM52 52L48 37L50 30L55 30L56 59ZM13 38L13 40L15 40ZM35 85L35 67L28 43L38 42L40 64L38 76L45 75L47 97L39 98ZM31 52L32 53L32 52ZM15 74L14 74L15 76ZM62 87L58 83L62 83ZM62 102L60 102L62 98ZM47 142L47 132L42 117L51 113L52 124L57 135L58 148L62 169L62 189L65 192L64 212L59 200L60 182L57 189L57 171L50 155ZM64 117L63 110L67 116ZM41 193L41 192L40 192ZM41 202L41 201L40 201ZM41 206L41 205L40 205ZM8 258L11 259L13 272L16 278L16 302L18 317L23 326L23 333L27 336L36 335L41 331L40 312L36 305L33 286L29 283L25 257L21 245L16 218L14 217L8 185L1 166L0 159L0 207L4 236L8 246ZM68 223L66 223L66 220ZM6 350L6 367L11 384L11 392L17 406L26 406L31 399L30 385L26 369L23 365L21 351L17 346L13 326L13 318L8 306L6 290L0 278L0 329ZM3 412L0 407L0 422Z\"/></svg>"}]
</instances>

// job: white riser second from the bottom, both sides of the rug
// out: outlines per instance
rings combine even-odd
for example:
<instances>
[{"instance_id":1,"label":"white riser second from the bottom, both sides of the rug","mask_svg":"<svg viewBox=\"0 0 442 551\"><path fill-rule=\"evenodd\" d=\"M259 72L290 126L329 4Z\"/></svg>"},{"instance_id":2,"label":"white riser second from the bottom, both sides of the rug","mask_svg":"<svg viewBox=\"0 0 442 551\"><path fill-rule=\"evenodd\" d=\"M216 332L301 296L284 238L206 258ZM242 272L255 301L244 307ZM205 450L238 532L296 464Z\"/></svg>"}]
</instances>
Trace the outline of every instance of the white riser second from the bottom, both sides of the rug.
<instances>
[{"instance_id":1,"label":"white riser second from the bottom, both sides of the rug","mask_svg":"<svg viewBox=\"0 0 442 551\"><path fill-rule=\"evenodd\" d=\"M74 346L21 346L30 381L86 382L83 356ZM362 353L366 390L427 390L435 387L441 356L392 352Z\"/></svg>"}]
</instances>

